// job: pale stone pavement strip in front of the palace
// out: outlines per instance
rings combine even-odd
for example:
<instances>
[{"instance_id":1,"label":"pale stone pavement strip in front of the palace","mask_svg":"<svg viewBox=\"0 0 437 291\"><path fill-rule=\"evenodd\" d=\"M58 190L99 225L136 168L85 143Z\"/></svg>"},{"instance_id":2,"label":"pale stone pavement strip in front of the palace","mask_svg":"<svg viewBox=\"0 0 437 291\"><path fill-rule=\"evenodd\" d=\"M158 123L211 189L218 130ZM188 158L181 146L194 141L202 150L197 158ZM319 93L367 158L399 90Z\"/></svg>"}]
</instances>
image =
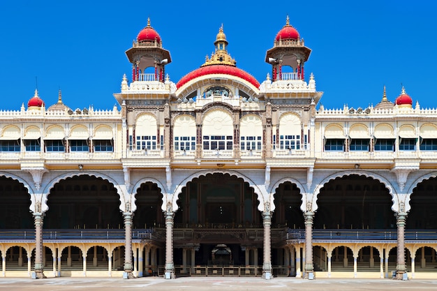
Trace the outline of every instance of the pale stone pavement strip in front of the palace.
<instances>
[{"instance_id":1,"label":"pale stone pavement strip in front of the palace","mask_svg":"<svg viewBox=\"0 0 437 291\"><path fill-rule=\"evenodd\" d=\"M316 279L313 281L302 278L225 278L225 277L188 277L166 280L149 277L135 279L121 278L47 278L23 279L0 278L0 290L7 291L85 291L85 290L437 290L435 280L396 281L392 279Z\"/></svg>"}]
</instances>

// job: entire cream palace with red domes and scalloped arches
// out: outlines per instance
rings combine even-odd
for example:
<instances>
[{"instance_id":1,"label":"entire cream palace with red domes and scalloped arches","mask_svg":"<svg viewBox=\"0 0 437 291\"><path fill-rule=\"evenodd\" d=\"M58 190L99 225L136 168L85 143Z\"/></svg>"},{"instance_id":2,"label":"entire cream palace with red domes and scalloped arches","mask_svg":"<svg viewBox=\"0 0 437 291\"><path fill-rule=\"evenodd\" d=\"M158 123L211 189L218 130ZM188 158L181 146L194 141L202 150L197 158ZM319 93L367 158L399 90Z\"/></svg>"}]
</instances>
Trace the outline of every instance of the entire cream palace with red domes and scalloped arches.
<instances>
[{"instance_id":1,"label":"entire cream palace with red domes and scalloped arches","mask_svg":"<svg viewBox=\"0 0 437 291\"><path fill-rule=\"evenodd\" d=\"M148 20L112 110L0 111L3 276L437 278L437 110L324 108L276 31L262 82L223 27L172 82Z\"/></svg>"}]
</instances>

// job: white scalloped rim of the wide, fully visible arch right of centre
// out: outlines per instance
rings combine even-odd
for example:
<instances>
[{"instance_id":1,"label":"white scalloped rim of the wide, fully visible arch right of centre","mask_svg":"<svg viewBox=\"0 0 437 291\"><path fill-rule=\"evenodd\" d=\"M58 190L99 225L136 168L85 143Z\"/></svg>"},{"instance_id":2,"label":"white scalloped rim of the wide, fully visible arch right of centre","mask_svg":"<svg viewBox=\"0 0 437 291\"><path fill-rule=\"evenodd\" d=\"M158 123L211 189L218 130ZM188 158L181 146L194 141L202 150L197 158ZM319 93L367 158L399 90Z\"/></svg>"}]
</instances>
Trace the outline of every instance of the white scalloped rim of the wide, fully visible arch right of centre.
<instances>
[{"instance_id":1,"label":"white scalloped rim of the wide, fully visible arch right of centre","mask_svg":"<svg viewBox=\"0 0 437 291\"><path fill-rule=\"evenodd\" d=\"M312 211L317 210L317 198L320 193L320 189L325 187L325 184L327 184L329 181L334 180L336 178L343 178L350 175L356 174L358 176L364 176L369 177L371 179L375 179L380 181L380 183L385 185L385 188L388 189L390 195L392 195L392 211L397 211L397 204L398 204L398 197L397 193L394 192L394 188L392 187L392 184L390 184L390 181L385 179L384 177L380 176L379 174L376 174L374 172L368 172L368 171L357 171L357 170L350 170L350 171L342 171L342 172L336 172L334 174L329 175L322 181L318 183L318 186L313 191L313 200L312 200Z\"/></svg>"}]
</instances>

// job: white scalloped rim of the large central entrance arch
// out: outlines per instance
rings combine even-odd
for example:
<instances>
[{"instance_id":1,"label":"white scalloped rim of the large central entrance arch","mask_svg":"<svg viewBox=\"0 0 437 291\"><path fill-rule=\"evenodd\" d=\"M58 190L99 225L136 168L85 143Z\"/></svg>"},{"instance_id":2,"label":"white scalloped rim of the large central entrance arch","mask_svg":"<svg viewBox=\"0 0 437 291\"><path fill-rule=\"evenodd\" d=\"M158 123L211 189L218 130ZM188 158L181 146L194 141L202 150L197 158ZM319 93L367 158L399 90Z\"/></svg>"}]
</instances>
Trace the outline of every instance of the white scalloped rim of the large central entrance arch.
<instances>
[{"instance_id":1,"label":"white scalloped rim of the large central entrance arch","mask_svg":"<svg viewBox=\"0 0 437 291\"><path fill-rule=\"evenodd\" d=\"M186 184L188 184L188 182L193 181L193 179L195 178L199 178L200 176L206 176L207 174L229 174L230 176L235 176L237 178L241 178L243 179L244 182L249 184L249 187L253 188L253 193L256 193L257 196L257 200L258 202L260 202L260 204L258 204L258 210L259 211L264 211L264 204L265 202L269 202L270 203L270 211L272 211L272 207L274 207L273 204L273 200L269 199L269 201L265 201L265 197L263 194L267 194L267 192L265 191L265 189L263 189L264 191L262 191L262 189L260 187L258 187L257 184L255 184L251 179L249 179L248 177L246 177L244 174L237 172L237 171L232 171L232 170L202 170L199 172L195 172L194 174L191 174L190 176L186 177L186 179L184 179L183 181L181 181L179 183L179 185L176 187L175 192L171 195L171 199L172 199L172 210L175 211L178 209L177 206L177 200L179 200L179 195L182 193L182 188L186 187ZM168 201L170 202L170 201ZM163 203L163 211L165 211L165 207L168 203L167 201L164 201Z\"/></svg>"}]
</instances>

